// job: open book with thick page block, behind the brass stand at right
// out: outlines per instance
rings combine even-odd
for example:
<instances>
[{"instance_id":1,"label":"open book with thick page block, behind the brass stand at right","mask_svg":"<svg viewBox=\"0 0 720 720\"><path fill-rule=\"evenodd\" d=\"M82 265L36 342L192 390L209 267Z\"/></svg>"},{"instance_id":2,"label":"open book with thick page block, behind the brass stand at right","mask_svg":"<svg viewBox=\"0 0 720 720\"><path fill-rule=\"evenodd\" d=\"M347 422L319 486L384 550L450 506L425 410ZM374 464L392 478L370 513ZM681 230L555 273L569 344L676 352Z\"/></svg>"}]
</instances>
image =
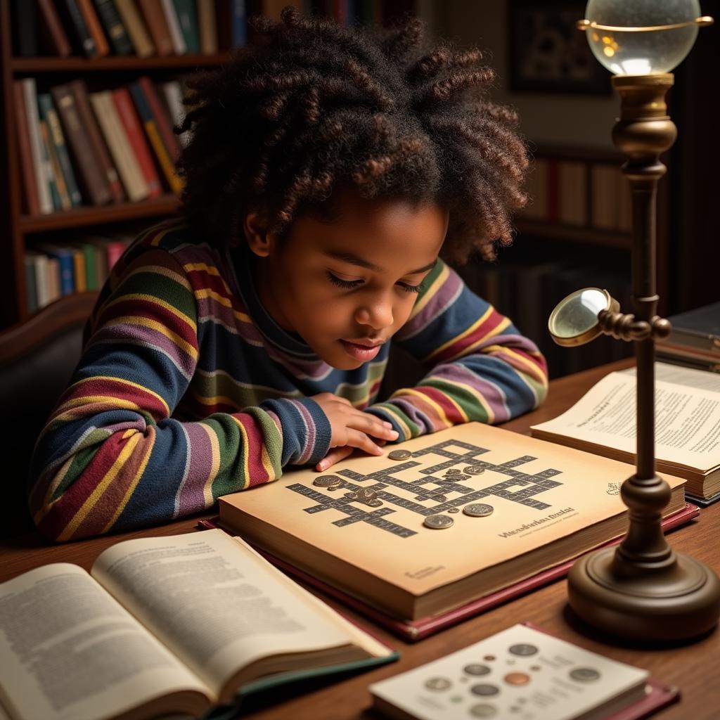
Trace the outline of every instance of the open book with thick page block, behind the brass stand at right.
<instances>
[{"instance_id":1,"label":"open book with thick page block, behind the brass stand at right","mask_svg":"<svg viewBox=\"0 0 720 720\"><path fill-rule=\"evenodd\" d=\"M655 364L657 469L684 477L690 500L720 498L720 378ZM634 368L611 372L554 420L531 428L533 437L635 462Z\"/></svg>"}]
</instances>

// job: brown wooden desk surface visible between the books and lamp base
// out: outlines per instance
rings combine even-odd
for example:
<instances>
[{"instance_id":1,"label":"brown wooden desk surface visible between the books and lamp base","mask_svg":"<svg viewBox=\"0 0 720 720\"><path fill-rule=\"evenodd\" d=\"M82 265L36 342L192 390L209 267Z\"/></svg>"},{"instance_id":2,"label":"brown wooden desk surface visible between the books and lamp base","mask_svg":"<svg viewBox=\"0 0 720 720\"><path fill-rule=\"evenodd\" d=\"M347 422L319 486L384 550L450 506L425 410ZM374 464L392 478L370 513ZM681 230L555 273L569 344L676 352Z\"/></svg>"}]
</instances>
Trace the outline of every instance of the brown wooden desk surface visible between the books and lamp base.
<instances>
[{"instance_id":1,"label":"brown wooden desk surface visible between the books and lamp base","mask_svg":"<svg viewBox=\"0 0 720 720\"><path fill-rule=\"evenodd\" d=\"M548 400L542 408L522 418L507 423L505 427L519 433L528 433L531 424L558 415L572 405L577 397L588 390L610 369L629 366L631 361L621 361L600 369L593 369L552 382ZM125 533L107 538L78 541L60 546L44 546L36 536L22 536L0 544L0 581L19 575L20 572L48 562L74 562L88 568L97 555L107 546L124 539L138 536L171 535L192 531L197 518L178 521L159 528ZM672 546L706 562L720 572L718 536L720 532L720 503L701 510L701 516L688 526L670 534ZM374 629L377 636L402 654L399 662L377 670L353 675L345 680L324 680L294 691L292 696L283 695L283 689L275 694L273 704L248 706L248 716L258 720L344 720L349 718L375 717L368 711L369 683L410 670L423 662L434 660L449 652L504 629L517 622L530 620L582 647L600 652L616 660L647 668L654 678L668 685L677 685L682 691L680 703L667 708L657 717L662 720L718 720L720 718L720 632L706 636L699 642L672 649L631 649L613 647L596 639L579 634L564 616L566 607L564 580L554 582L536 592L495 608L472 620L465 621L440 634L406 644L395 636L374 628L369 621L355 617L359 623ZM328 600L328 598L325 598ZM330 605L338 603L328 600ZM281 702L282 700L282 702Z\"/></svg>"}]
</instances>

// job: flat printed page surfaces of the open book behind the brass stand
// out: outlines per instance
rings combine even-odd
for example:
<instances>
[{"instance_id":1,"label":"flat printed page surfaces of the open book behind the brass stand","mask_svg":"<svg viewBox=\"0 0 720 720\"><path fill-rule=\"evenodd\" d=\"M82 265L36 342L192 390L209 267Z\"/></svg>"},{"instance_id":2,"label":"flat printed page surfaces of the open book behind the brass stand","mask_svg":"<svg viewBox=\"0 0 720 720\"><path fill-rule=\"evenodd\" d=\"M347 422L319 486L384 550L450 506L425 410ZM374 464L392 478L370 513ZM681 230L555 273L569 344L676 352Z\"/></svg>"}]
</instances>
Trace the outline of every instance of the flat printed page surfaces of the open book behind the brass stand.
<instances>
[{"instance_id":1,"label":"flat printed page surfaces of the open book behind the brass stand","mask_svg":"<svg viewBox=\"0 0 720 720\"><path fill-rule=\"evenodd\" d=\"M634 374L611 372L570 410L532 426L533 434L552 433L634 454L635 403ZM656 380L655 454L701 472L719 466L720 392Z\"/></svg>"}]
</instances>

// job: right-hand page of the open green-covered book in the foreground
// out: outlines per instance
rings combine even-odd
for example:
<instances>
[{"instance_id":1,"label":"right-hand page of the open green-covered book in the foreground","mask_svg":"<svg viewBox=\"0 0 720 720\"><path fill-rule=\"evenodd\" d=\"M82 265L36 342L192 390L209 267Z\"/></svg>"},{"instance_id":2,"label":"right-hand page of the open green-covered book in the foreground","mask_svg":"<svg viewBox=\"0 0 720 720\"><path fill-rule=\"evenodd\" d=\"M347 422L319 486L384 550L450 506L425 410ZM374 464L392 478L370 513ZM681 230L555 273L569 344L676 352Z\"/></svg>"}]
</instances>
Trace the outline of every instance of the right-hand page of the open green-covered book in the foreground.
<instances>
[{"instance_id":1,"label":"right-hand page of the open green-covered book in the foreground","mask_svg":"<svg viewBox=\"0 0 720 720\"><path fill-rule=\"evenodd\" d=\"M92 569L217 694L258 658L350 642L274 572L221 530L127 540Z\"/></svg>"}]
</instances>

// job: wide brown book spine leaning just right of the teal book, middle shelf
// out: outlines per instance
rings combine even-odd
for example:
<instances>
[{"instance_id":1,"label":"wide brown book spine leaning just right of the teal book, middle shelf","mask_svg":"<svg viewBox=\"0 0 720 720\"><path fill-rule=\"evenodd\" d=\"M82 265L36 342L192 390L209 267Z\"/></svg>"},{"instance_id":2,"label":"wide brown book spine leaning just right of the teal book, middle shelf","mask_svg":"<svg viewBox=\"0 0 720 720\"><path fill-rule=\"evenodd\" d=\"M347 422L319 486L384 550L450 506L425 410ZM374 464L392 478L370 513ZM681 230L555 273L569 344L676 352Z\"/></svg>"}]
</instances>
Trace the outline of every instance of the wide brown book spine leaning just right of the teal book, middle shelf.
<instances>
[{"instance_id":1,"label":"wide brown book spine leaning just right of the teal book, middle shelf","mask_svg":"<svg viewBox=\"0 0 720 720\"><path fill-rule=\"evenodd\" d=\"M60 121L73 152L86 197L94 205L107 204L112 200L112 193L99 161L88 143L87 132L78 113L75 97L66 85L51 88L50 94L60 114Z\"/></svg>"}]
</instances>

